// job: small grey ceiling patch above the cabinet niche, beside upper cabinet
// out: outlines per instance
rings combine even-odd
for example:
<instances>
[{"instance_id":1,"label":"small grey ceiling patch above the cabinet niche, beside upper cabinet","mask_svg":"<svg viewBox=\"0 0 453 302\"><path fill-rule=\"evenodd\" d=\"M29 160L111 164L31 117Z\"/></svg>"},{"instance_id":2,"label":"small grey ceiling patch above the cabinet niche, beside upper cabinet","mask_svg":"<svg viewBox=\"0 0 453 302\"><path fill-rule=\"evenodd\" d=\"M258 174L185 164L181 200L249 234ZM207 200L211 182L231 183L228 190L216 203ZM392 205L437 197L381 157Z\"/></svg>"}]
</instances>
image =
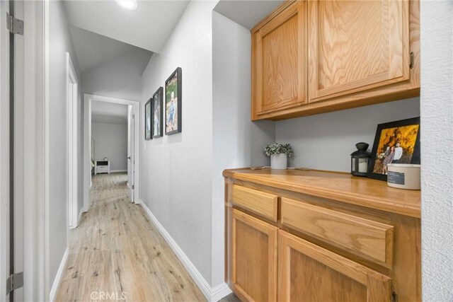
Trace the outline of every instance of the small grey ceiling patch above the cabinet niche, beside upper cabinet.
<instances>
[{"instance_id":1,"label":"small grey ceiling patch above the cabinet niche, beside upper cabinet","mask_svg":"<svg viewBox=\"0 0 453 302\"><path fill-rule=\"evenodd\" d=\"M244 28L251 29L282 2L283 0L220 0L214 7L214 11Z\"/></svg>"}]
</instances>

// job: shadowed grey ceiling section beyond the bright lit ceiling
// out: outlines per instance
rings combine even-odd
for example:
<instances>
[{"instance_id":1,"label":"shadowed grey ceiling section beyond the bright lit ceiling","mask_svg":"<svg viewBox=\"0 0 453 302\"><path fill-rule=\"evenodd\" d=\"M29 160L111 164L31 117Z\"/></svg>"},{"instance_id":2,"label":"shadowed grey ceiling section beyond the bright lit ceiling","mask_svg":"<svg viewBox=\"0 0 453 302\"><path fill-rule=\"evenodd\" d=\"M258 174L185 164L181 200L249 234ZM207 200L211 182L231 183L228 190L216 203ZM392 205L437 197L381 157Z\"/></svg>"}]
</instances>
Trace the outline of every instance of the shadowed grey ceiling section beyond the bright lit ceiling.
<instances>
[{"instance_id":1,"label":"shadowed grey ceiling section beyond the bright lit ceiling","mask_svg":"<svg viewBox=\"0 0 453 302\"><path fill-rule=\"evenodd\" d=\"M69 33L71 33L81 73L95 69L111 59L120 57L126 52L134 51L134 55L137 55L137 57L147 57L147 61L153 54L149 50L144 50L74 26L69 26ZM143 62L140 62L140 64L143 65ZM146 66L146 62L144 65Z\"/></svg>"}]
</instances>

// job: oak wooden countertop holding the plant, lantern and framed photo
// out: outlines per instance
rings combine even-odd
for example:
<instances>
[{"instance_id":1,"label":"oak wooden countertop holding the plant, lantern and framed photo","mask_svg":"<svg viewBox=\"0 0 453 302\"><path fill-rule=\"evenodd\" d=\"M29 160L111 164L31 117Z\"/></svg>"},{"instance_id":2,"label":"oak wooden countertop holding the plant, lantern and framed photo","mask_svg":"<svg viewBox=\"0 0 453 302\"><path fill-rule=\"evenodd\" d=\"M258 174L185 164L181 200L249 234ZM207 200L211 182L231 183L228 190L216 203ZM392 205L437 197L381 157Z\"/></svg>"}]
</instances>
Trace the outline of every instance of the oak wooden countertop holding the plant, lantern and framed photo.
<instances>
[{"instance_id":1,"label":"oak wooden countertop holding the plant, lantern and framed photo","mask_svg":"<svg viewBox=\"0 0 453 302\"><path fill-rule=\"evenodd\" d=\"M389 187L386 182L319 170L229 169L226 178L254 182L362 207L420 218L420 191Z\"/></svg>"}]
</instances>

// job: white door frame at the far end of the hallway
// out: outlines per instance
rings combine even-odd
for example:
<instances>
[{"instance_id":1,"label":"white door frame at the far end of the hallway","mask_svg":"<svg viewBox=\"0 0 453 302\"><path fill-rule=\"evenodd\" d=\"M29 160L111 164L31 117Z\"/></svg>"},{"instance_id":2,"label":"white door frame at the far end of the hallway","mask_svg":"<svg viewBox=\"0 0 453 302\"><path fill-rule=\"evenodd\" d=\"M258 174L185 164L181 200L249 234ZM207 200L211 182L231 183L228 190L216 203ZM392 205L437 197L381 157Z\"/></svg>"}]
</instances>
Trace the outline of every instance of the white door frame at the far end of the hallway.
<instances>
[{"instance_id":1,"label":"white door frame at the far end of the hallway","mask_svg":"<svg viewBox=\"0 0 453 302\"><path fill-rule=\"evenodd\" d=\"M101 102L132 105L134 108L134 158L135 158L135 173L134 173L134 199L132 202L139 203L139 117L140 116L140 102L137 100L126 100L123 98L110 98L108 96L94 95L84 93L84 211L89 208L89 190L91 183L91 102L98 100Z\"/></svg>"}]
</instances>

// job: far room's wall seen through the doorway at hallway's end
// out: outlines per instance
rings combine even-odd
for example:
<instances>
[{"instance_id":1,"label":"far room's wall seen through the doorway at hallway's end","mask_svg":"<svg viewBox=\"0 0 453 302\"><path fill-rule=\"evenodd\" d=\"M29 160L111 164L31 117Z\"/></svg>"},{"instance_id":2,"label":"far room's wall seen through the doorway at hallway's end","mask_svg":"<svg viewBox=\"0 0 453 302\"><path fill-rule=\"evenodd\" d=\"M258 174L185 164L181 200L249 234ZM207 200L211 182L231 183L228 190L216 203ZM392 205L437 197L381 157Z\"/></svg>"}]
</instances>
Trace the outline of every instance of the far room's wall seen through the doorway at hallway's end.
<instances>
[{"instance_id":1,"label":"far room's wall seen through the doorway at hallway's end","mask_svg":"<svg viewBox=\"0 0 453 302\"><path fill-rule=\"evenodd\" d=\"M127 124L91 124L94 160L110 160L110 170L127 170Z\"/></svg>"}]
</instances>

